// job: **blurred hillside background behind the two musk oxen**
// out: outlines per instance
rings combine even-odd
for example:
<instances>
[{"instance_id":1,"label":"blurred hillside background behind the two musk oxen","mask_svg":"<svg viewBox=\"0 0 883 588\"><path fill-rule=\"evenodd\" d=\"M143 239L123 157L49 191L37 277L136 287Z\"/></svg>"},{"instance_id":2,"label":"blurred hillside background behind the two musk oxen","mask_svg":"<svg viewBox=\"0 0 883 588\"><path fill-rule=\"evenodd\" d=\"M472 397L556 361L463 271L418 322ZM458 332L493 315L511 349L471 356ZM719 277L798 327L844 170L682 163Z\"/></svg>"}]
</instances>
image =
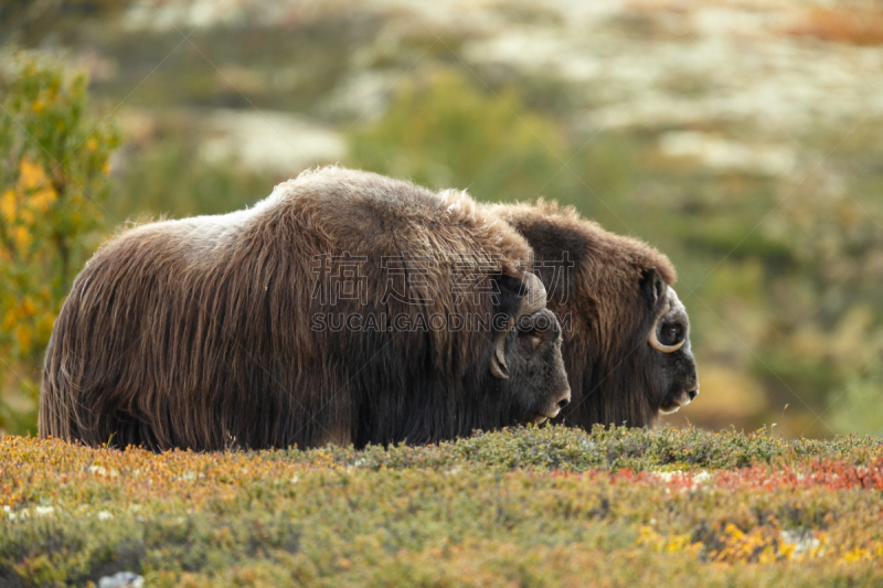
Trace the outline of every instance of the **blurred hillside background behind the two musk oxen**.
<instances>
[{"instance_id":1,"label":"blurred hillside background behind the two musk oxen","mask_svg":"<svg viewBox=\"0 0 883 588\"><path fill-rule=\"evenodd\" d=\"M575 205L678 267L663 423L883 434L883 4L0 1L0 428L126 221L318 163Z\"/></svg>"}]
</instances>

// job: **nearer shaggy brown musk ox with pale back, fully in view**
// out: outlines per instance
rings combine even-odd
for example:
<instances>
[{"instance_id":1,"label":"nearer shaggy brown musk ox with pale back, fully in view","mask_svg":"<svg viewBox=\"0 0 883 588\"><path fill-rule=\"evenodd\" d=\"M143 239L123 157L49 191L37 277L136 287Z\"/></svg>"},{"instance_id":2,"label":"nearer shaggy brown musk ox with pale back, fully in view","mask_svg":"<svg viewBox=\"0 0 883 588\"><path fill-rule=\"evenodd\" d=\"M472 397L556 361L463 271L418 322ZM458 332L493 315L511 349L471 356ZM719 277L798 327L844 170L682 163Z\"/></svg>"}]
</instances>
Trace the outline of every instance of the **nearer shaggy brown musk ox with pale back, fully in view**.
<instances>
[{"instance_id":1,"label":"nearer shaggy brown musk ox with pale back, fully in view","mask_svg":"<svg viewBox=\"0 0 883 588\"><path fill-rule=\"evenodd\" d=\"M554 417L531 249L464 192L326 168L125 231L74 281L40 435L153 450L432 442Z\"/></svg>"}]
</instances>

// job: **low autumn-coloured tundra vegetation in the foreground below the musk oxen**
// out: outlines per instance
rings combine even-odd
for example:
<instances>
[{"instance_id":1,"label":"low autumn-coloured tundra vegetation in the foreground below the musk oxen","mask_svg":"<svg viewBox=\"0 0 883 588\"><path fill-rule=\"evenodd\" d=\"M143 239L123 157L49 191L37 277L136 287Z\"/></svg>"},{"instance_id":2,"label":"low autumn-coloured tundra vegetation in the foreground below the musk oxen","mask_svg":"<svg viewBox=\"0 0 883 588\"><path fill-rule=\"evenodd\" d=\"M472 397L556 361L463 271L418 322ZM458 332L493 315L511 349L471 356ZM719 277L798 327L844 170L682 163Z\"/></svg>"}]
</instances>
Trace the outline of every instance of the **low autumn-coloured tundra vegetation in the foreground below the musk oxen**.
<instances>
[{"instance_id":1,"label":"low autumn-coloured tundra vegetation in the foreground below the musk oxen","mask_svg":"<svg viewBox=\"0 0 883 588\"><path fill-rule=\"evenodd\" d=\"M0 585L854 586L876 438L514 429L432 447L162 455L0 439Z\"/></svg>"}]
</instances>

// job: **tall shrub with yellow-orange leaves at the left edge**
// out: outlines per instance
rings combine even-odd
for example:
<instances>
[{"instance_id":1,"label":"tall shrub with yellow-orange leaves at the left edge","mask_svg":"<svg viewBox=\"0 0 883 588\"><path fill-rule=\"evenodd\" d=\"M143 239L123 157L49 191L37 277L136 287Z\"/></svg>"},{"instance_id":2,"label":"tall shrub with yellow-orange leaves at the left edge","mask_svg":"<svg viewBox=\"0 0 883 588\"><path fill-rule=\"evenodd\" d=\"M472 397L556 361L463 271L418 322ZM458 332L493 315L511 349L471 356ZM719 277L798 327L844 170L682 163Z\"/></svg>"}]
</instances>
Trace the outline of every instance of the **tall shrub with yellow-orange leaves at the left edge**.
<instances>
[{"instance_id":1,"label":"tall shrub with yellow-orange leaves at the left edge","mask_svg":"<svg viewBox=\"0 0 883 588\"><path fill-rule=\"evenodd\" d=\"M35 430L39 365L71 281L105 225L119 133L88 114L88 79L21 58L0 113L0 428Z\"/></svg>"}]
</instances>

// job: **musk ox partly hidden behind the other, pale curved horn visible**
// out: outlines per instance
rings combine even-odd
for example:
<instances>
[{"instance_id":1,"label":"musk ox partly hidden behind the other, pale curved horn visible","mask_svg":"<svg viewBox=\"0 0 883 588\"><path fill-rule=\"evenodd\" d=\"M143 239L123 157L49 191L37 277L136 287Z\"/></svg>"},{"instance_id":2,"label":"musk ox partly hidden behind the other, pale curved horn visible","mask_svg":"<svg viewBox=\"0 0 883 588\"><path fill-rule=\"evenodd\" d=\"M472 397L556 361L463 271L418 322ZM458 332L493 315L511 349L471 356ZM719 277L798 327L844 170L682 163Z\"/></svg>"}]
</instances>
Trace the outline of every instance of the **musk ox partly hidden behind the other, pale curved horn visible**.
<instances>
[{"instance_id":1,"label":"musk ox partly hidden behind the other, pale curved horn visible","mask_svg":"<svg viewBox=\"0 0 883 588\"><path fill-rule=\"evenodd\" d=\"M564 327L573 393L557 421L645 427L699 394L690 321L668 257L604 231L573 207L489 207L533 248L547 306Z\"/></svg>"}]
</instances>

